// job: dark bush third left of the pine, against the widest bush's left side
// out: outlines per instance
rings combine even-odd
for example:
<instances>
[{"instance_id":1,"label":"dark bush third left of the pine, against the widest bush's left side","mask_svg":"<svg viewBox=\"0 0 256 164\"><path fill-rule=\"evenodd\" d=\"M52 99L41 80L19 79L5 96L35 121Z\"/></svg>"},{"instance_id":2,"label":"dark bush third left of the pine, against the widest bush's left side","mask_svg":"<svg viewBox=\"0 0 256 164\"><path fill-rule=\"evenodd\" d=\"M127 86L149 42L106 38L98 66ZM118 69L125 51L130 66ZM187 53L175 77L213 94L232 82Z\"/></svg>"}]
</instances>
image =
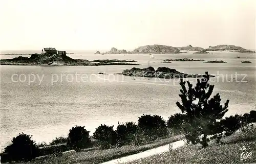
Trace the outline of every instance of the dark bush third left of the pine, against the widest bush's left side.
<instances>
[{"instance_id":1,"label":"dark bush third left of the pine, against the widest bush's left side","mask_svg":"<svg viewBox=\"0 0 256 164\"><path fill-rule=\"evenodd\" d=\"M133 122L120 124L116 129L117 145L123 146L132 142L132 135L135 134L137 125Z\"/></svg>"}]
</instances>

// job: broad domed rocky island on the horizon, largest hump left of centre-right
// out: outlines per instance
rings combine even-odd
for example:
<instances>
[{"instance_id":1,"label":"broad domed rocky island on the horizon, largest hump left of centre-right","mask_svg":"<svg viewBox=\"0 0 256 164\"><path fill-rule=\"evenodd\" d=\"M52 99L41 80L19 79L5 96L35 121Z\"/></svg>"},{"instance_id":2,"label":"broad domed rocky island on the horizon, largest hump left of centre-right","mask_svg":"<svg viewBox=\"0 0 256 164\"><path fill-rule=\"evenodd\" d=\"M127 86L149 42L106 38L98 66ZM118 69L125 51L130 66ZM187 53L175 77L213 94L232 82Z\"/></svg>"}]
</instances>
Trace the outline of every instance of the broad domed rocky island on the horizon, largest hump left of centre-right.
<instances>
[{"instance_id":1,"label":"broad domed rocky island on the horizon, largest hump left of centre-right","mask_svg":"<svg viewBox=\"0 0 256 164\"><path fill-rule=\"evenodd\" d=\"M177 53L180 53L180 50L173 46L154 44L154 45L139 46L139 48L135 49L133 53L134 54L148 54L148 53L177 54Z\"/></svg>"}]
</instances>

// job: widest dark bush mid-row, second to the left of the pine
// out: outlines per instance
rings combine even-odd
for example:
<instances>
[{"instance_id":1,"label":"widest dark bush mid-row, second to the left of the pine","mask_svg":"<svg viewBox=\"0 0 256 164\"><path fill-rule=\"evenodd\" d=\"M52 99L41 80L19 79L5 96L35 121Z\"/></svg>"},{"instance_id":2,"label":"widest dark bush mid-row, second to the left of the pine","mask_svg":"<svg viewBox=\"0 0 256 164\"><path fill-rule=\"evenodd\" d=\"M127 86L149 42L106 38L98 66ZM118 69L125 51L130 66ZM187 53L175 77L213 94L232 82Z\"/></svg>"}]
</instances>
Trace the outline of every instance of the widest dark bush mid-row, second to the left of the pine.
<instances>
[{"instance_id":1,"label":"widest dark bush mid-row, second to the left of the pine","mask_svg":"<svg viewBox=\"0 0 256 164\"><path fill-rule=\"evenodd\" d=\"M165 121L159 115L142 115L138 120L138 128L149 140L165 137L167 128Z\"/></svg>"}]
</instances>

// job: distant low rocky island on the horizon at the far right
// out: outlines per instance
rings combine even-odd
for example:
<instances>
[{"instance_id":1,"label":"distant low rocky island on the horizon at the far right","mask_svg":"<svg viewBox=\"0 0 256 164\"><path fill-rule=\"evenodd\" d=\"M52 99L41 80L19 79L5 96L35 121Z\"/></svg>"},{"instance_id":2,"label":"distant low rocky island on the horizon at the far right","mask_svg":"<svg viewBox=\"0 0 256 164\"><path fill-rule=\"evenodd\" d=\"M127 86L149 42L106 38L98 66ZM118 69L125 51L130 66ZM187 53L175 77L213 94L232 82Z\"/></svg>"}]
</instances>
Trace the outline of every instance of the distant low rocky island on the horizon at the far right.
<instances>
[{"instance_id":1,"label":"distant low rocky island on the horizon at the far right","mask_svg":"<svg viewBox=\"0 0 256 164\"><path fill-rule=\"evenodd\" d=\"M239 52L239 53L255 53L255 51L246 50L241 46L226 45L226 44L209 46L209 48L205 50L206 51L231 51L231 52Z\"/></svg>"}]
</instances>

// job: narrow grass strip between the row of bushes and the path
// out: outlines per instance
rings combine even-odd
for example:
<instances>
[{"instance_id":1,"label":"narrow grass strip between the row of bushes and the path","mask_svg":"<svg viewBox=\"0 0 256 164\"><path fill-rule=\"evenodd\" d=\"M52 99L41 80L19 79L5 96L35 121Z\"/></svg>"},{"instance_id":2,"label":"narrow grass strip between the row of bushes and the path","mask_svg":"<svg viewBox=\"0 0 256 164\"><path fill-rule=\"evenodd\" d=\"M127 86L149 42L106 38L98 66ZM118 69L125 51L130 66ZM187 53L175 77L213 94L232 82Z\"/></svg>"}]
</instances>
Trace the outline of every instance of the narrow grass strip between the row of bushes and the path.
<instances>
[{"instance_id":1,"label":"narrow grass strip between the row of bushes and the path","mask_svg":"<svg viewBox=\"0 0 256 164\"><path fill-rule=\"evenodd\" d=\"M109 161L112 159L124 157L127 155L136 154L139 152L143 152L146 150L150 150L159 146L167 145L169 143L176 142L178 140L184 139L184 135L177 135L170 138L159 139L153 143L142 145L142 146L134 146L134 145L126 145L119 148L112 148L106 150L93 150L87 152L76 152L72 155L62 155L60 157L57 156L49 156L45 159L37 159L30 162L24 162L23 164L34 163L34 164L46 164L46 163L101 163L105 161ZM20 163L21 164L21 163Z\"/></svg>"}]
</instances>

